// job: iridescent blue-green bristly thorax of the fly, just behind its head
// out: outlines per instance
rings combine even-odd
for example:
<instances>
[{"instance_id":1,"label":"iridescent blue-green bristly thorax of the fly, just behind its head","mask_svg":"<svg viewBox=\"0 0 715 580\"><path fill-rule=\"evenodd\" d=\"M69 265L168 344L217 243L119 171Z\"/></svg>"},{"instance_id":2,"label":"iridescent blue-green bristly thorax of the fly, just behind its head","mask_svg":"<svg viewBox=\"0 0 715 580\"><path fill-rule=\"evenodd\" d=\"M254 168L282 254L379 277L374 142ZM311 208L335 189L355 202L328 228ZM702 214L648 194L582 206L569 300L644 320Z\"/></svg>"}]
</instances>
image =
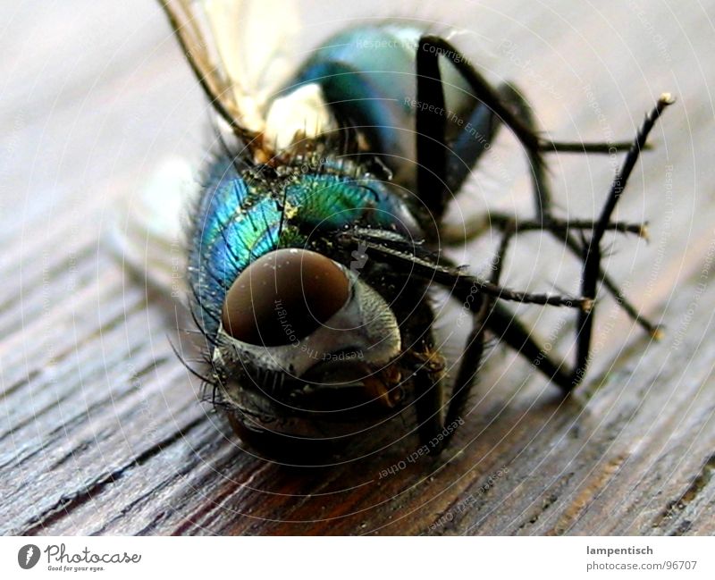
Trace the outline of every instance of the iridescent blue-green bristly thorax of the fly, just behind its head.
<instances>
[{"instance_id":1,"label":"iridescent blue-green bristly thorax of the fly, just behind its head","mask_svg":"<svg viewBox=\"0 0 715 580\"><path fill-rule=\"evenodd\" d=\"M198 203L190 282L202 307L218 318L231 283L266 252L303 248L349 225L404 231L405 215L390 183L353 164L297 159L277 169L238 172L219 160ZM206 326L217 330L215 321Z\"/></svg>"}]
</instances>

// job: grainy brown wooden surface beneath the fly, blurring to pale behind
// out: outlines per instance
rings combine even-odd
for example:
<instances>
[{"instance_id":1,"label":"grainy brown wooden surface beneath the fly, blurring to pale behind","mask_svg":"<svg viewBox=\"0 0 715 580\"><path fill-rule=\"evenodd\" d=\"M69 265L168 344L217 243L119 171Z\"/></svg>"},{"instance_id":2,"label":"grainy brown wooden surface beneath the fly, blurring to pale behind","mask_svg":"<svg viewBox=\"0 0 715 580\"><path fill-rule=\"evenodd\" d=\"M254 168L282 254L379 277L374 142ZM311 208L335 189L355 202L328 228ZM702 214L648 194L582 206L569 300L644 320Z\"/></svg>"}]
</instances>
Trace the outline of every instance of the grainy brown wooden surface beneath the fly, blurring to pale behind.
<instances>
[{"instance_id":1,"label":"grainy brown wooden surface beneath the fly, blurring to pale behind","mask_svg":"<svg viewBox=\"0 0 715 580\"><path fill-rule=\"evenodd\" d=\"M591 372L566 400L492 349L450 450L381 478L414 439L305 470L241 450L172 353L172 302L105 243L118 200L167 156L198 161L206 144L206 104L155 4L4 3L0 532L713 534L714 8L428 9L471 30L460 46L492 78L516 80L559 139L630 139L660 92L677 97L618 214L648 219L651 242L615 240L608 264L667 335L652 342L604 299ZM314 6L307 21L324 31L321 19L337 19L334 28L366 6L345 10ZM493 154L464 206L528 211L518 147L504 136ZM593 215L610 160L551 163L563 213ZM480 248L467 252L476 269L489 261ZM573 288L577 275L538 237L517 244L509 264L512 286ZM525 312L543 334L558 325L541 308Z\"/></svg>"}]
</instances>

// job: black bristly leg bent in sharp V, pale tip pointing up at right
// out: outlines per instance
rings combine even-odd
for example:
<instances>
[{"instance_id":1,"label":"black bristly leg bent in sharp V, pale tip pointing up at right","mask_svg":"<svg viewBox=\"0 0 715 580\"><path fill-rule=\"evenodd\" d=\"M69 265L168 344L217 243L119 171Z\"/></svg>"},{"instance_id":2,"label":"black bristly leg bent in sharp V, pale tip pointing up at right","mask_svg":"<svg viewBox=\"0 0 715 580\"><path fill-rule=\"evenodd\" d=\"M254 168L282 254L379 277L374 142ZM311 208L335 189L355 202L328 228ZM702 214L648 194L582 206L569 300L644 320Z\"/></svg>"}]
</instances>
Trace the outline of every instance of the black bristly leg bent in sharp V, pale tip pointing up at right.
<instances>
[{"instance_id":1,"label":"black bristly leg bent in sharp V, pale tip pointing up at right","mask_svg":"<svg viewBox=\"0 0 715 580\"><path fill-rule=\"evenodd\" d=\"M590 243L584 248L584 273L581 292L585 298L595 299L598 282L601 281L601 239L606 231L607 224L610 222L610 215L613 213L618 204L618 199L626 187L628 177L633 171L648 133L652 130L655 122L658 121L665 107L672 102L669 95L660 97L658 104L645 118L643 127L638 131L638 135L628 151L620 171L616 173L609 196L601 210L598 222L593 228ZM576 365L570 369L566 363L554 360L548 354L549 350L544 349L532 337L531 332L509 313L509 309L506 307L495 305L487 324L492 332L500 336L501 340L509 344L513 349L517 349L522 356L531 359L532 364L537 366L544 374L547 374L563 391L572 391L583 380L591 349L593 308L588 312L579 313L576 324Z\"/></svg>"}]
</instances>

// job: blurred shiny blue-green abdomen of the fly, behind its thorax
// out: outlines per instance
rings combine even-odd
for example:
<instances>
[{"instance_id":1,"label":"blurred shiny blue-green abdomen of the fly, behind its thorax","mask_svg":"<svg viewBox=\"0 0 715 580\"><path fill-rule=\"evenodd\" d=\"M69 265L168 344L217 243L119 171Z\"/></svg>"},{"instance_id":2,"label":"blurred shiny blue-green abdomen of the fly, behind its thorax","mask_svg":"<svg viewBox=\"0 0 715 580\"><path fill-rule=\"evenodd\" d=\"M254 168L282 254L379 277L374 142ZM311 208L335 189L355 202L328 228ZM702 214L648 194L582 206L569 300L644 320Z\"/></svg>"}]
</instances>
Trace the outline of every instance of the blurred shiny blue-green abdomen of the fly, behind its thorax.
<instances>
[{"instance_id":1,"label":"blurred shiny blue-green abdomen of the fly, behind its thorax","mask_svg":"<svg viewBox=\"0 0 715 580\"><path fill-rule=\"evenodd\" d=\"M283 94L317 84L335 117L354 126L368 149L381 156L394 180L416 184L416 55L425 30L384 24L349 29L319 47ZM474 97L451 63L442 59L447 121L449 186L458 189L492 136L490 111ZM488 146L487 146L488 147Z\"/></svg>"}]
</instances>

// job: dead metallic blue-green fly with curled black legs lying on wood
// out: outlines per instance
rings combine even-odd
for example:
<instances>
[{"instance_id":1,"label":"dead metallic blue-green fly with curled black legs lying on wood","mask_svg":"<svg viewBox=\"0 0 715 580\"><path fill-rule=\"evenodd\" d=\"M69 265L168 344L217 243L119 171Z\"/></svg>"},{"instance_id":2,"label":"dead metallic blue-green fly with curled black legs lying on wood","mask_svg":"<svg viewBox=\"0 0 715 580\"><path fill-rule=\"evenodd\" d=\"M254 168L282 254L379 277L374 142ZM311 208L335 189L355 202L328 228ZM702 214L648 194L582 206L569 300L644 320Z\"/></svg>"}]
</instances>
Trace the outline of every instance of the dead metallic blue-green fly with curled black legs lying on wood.
<instances>
[{"instance_id":1,"label":"dead metallic blue-green fly with curled black legs lying on wood","mask_svg":"<svg viewBox=\"0 0 715 580\"><path fill-rule=\"evenodd\" d=\"M644 235L612 214L660 114L660 97L629 142L543 137L522 93L493 86L449 40L398 21L341 31L273 94L251 93L237 64L238 4L164 2L172 29L218 119L221 147L206 167L189 232L189 303L205 339L197 371L240 437L286 455L313 442L349 441L412 409L437 453L462 424L487 333L516 349L564 393L589 362L596 290L639 315L601 268L606 231ZM491 214L501 232L492 273L480 277L444 250L444 221L502 126L532 169L534 215ZM601 213L552 213L545 160L559 152L624 152ZM501 265L517 233L546 231L583 265L577 296L509 289ZM468 310L471 332L448 379L437 345L434 287ZM554 356L509 303L570 308L576 360Z\"/></svg>"}]
</instances>

